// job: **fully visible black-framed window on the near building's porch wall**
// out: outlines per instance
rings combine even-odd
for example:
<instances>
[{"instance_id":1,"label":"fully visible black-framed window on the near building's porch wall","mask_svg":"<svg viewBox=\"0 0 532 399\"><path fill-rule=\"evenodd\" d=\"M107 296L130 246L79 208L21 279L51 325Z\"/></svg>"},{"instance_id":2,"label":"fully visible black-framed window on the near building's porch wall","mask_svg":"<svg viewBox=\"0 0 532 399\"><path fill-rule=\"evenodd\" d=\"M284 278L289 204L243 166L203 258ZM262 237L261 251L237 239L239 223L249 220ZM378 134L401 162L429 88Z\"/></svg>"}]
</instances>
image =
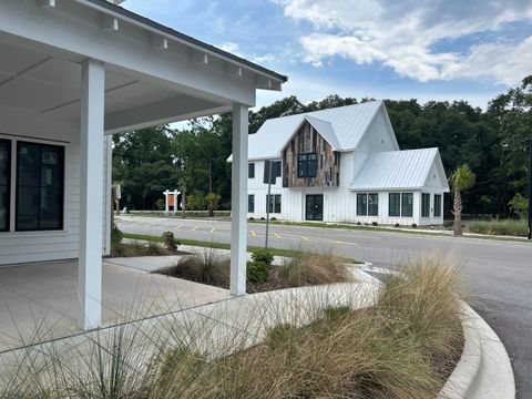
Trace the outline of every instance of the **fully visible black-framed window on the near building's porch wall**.
<instances>
[{"instance_id":1,"label":"fully visible black-framed window on the near building's porch wall","mask_svg":"<svg viewBox=\"0 0 532 399\"><path fill-rule=\"evenodd\" d=\"M18 232L63 228L64 149L17 142Z\"/></svg>"}]
</instances>

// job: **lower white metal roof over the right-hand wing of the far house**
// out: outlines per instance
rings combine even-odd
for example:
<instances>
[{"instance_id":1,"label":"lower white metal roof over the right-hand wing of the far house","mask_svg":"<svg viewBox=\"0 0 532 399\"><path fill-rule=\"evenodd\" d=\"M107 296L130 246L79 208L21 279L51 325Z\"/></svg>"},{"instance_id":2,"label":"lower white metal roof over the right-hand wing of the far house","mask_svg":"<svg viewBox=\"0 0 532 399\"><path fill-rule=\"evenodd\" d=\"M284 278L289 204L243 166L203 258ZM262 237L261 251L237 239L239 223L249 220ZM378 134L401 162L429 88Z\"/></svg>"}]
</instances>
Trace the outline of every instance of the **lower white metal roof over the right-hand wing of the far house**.
<instances>
[{"instance_id":1,"label":"lower white metal roof over the right-hand wing of the far house","mask_svg":"<svg viewBox=\"0 0 532 399\"><path fill-rule=\"evenodd\" d=\"M434 162L444 181L442 188L449 191L438 149L371 153L349 188L352 191L421 190L426 185Z\"/></svg>"}]
</instances>

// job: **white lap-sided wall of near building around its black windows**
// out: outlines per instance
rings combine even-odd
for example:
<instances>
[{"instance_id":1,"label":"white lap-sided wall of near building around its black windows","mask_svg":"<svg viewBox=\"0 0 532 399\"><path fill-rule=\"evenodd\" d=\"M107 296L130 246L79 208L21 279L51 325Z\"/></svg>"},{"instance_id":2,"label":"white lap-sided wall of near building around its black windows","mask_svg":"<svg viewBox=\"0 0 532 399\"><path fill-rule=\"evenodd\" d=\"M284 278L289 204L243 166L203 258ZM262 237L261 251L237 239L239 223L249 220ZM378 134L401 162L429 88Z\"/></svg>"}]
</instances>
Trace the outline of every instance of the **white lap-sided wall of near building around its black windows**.
<instances>
[{"instance_id":1,"label":"white lap-sided wall of near building around its black windows","mask_svg":"<svg viewBox=\"0 0 532 399\"><path fill-rule=\"evenodd\" d=\"M70 259L79 255L80 227L80 134L75 124L59 124L33 115L21 114L13 109L0 109L0 139L12 142L11 150L11 231L0 233L0 265L43 260ZM14 231L16 200L16 145L17 141L35 142L64 147L63 229L62 231ZM109 231L111 208L111 136L104 140L104 212L102 226ZM102 201L102 198L91 198ZM110 234L103 235L104 254L110 250Z\"/></svg>"}]
</instances>

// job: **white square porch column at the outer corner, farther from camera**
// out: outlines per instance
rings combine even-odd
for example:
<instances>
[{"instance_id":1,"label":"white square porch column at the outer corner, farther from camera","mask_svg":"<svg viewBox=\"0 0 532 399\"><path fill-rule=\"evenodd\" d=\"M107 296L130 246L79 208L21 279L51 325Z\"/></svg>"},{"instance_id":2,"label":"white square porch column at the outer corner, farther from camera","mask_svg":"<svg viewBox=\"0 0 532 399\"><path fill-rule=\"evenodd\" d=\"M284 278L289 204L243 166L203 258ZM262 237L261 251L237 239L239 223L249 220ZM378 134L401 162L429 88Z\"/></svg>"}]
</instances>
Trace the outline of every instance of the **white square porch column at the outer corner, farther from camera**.
<instances>
[{"instance_id":1,"label":"white square porch column at the outer corner, farther from camera","mask_svg":"<svg viewBox=\"0 0 532 399\"><path fill-rule=\"evenodd\" d=\"M246 294L247 260L247 106L233 105L231 180L231 294Z\"/></svg>"}]
</instances>

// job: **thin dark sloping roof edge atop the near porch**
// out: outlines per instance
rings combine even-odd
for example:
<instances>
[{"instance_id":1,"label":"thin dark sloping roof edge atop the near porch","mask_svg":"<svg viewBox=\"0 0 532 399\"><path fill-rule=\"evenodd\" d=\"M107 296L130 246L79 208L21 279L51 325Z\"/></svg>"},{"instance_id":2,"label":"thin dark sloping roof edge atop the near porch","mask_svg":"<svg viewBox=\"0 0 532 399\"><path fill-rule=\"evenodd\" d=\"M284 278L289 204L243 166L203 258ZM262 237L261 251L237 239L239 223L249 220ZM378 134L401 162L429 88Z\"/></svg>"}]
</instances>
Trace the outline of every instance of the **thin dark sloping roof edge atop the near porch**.
<instances>
[{"instance_id":1,"label":"thin dark sloping roof edge atop the near porch","mask_svg":"<svg viewBox=\"0 0 532 399\"><path fill-rule=\"evenodd\" d=\"M149 18L145 18L145 17L142 17L135 12L132 12L130 10L126 10L124 9L123 7L121 6L116 6L108 0L78 0L78 1L88 1L89 3L93 3L93 4L96 4L99 7L102 7L109 11L112 11L112 12L115 12L122 17L125 17L125 18L130 18L139 23L142 23L146 27L150 27L152 29L156 29L158 31L161 31L162 33L165 33L165 34L168 34L170 37L173 37L175 38L176 40L178 41L184 41L184 42L187 42L190 45L194 45L194 47L197 47L200 49L203 49L207 52L211 52L211 53L214 53L214 54L217 54L217 55L221 55L225 59L228 59L228 60L232 60L233 62L236 62L236 63L239 63L244 66L247 66L249 69L253 69L257 72L262 72L270 78L274 78L276 80L279 80L282 82L287 82L288 81L288 76L286 75L283 75L280 73L277 73L275 71L272 71L267 68L264 68L264 66L260 66L254 62L250 62L248 60L245 60L241 57L237 57L235 54L232 54L227 51L224 51L222 49L218 49L214 45L211 45L211 44L207 44L201 40L197 40L193 37L190 37L187 34L184 34L182 32L178 32L172 28L168 28L168 27L165 27L158 22L155 22Z\"/></svg>"}]
</instances>

